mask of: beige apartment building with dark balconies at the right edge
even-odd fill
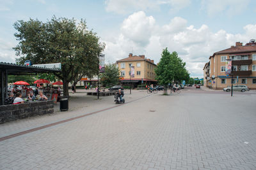
[[[232,60],[233,58],[233,60]],[[227,59],[232,60],[234,66],[232,74],[226,74]],[[204,66],[204,86],[220,90],[233,85],[246,85],[250,89],[256,89],[256,43],[251,39],[250,43],[236,42],[220,52],[215,52],[209,57],[209,62]]]

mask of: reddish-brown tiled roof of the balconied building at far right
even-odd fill
[[[227,48],[225,50],[221,50],[220,52],[215,52],[216,54],[223,53],[244,53],[244,52],[256,52],[256,46],[232,46],[231,48]]]

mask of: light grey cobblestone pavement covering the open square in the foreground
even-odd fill
[[[255,99],[134,92],[125,96],[130,103],[1,141],[0,169],[256,169]],[[89,105],[2,124],[0,134],[115,104],[110,96]]]

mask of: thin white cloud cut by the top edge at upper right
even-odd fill
[[[210,16],[225,13],[229,17],[239,15],[250,3],[250,0],[202,0],[202,9]]]

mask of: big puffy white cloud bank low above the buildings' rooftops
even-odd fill
[[[174,17],[165,25],[156,25],[154,17],[139,11],[124,20],[116,39],[104,41],[104,53],[107,60],[115,62],[127,57],[133,47],[134,55],[145,54],[159,62],[162,50],[168,47],[170,52],[179,53],[192,76],[202,77],[202,69],[210,55],[230,48],[236,41],[246,43],[256,35],[256,25],[246,25],[243,29],[243,34],[230,34],[224,30],[212,32],[204,24],[198,28],[187,25],[181,17]]]

